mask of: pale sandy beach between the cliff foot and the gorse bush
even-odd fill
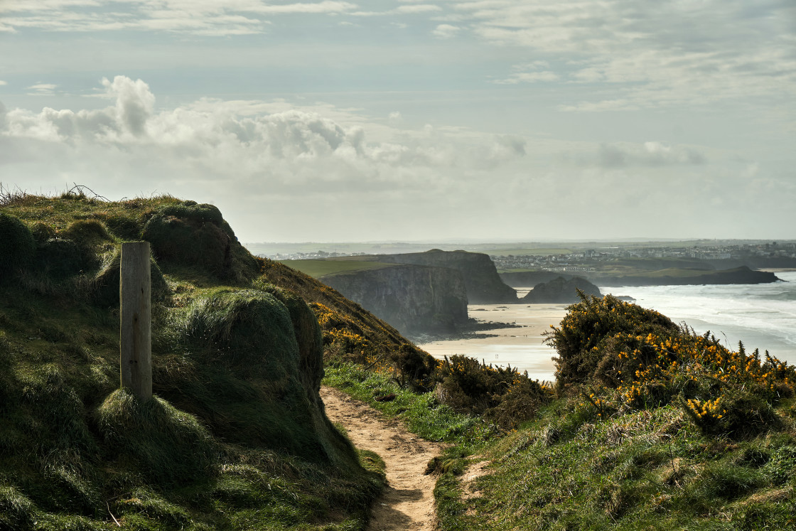
[[[528,371],[529,377],[553,381],[556,351],[543,345],[545,330],[557,325],[567,313],[566,304],[471,304],[471,318],[485,322],[513,322],[519,327],[484,330],[492,337],[435,341],[418,346],[434,357],[465,354],[492,365],[511,365]],[[498,325],[499,326],[499,325]]]

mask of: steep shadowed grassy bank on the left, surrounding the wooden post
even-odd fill
[[[146,403],[119,389],[119,248],[139,239],[153,250]],[[320,289],[251,256],[211,205],[2,197],[0,529],[364,529],[378,459],[322,412],[334,341],[263,276],[275,269]]]

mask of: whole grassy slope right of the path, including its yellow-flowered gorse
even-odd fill
[[[444,529],[796,529],[794,368],[607,296],[551,330],[556,400],[481,451]]]

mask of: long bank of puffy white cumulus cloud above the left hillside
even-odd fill
[[[0,152],[13,145],[16,162],[0,157],[4,182],[24,187],[79,175],[77,181],[95,184],[107,196],[159,189],[199,199],[227,197],[236,205],[228,209],[232,217],[237,211],[256,217],[267,198],[318,204],[319,212],[323,203],[345,198],[353,215],[372,201],[418,209],[427,204],[425,194],[439,197],[452,187],[465,192],[485,172],[525,156],[521,137],[451,127],[404,130],[397,111],[388,124],[335,107],[282,101],[201,99],[157,110],[143,80],[115,76],[102,86],[112,98],[104,108],[8,111]],[[356,197],[362,205],[351,204]]]

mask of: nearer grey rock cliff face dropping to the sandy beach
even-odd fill
[[[467,293],[458,271],[397,264],[319,279],[404,334],[447,331],[467,322]]]

